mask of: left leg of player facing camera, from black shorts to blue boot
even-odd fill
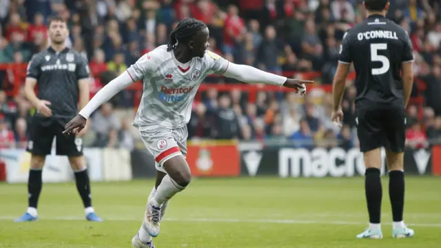
[[[30,125],[30,140],[27,151],[30,152],[30,170],[28,177],[28,210],[17,218],[16,222],[37,220],[37,205],[43,187],[42,172],[45,156],[50,154],[54,134],[50,130],[50,121],[34,116]]]

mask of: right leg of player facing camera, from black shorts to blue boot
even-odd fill
[[[74,171],[76,189],[83,201],[85,218],[90,221],[101,222],[92,207],[90,180],[88,167],[83,156],[83,142],[75,136],[57,135],[57,155],[68,156],[70,166]]]

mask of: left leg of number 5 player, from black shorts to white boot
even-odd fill
[[[369,227],[357,238],[382,238],[380,225],[382,185],[380,178],[382,130],[375,111],[357,113],[357,134],[360,151],[365,159],[365,196],[369,213]]]

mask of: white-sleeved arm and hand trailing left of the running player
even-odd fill
[[[99,90],[89,103],[83,107],[83,110],[81,110],[72,121],[65,125],[63,134],[78,134],[85,127],[86,120],[89,118],[90,114],[133,82],[130,74],[125,71],[123,74],[116,77],[116,79],[107,83],[107,85]]]

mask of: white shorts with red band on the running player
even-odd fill
[[[163,164],[174,156],[187,155],[187,126],[170,129],[154,127],[152,130],[141,131],[141,138],[145,147],[153,155],[155,167],[165,172]]]

